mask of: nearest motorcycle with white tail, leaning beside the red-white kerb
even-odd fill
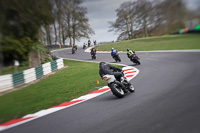
[[[125,93],[127,93],[128,91],[130,91],[131,93],[135,91],[135,88],[129,81],[127,81],[125,76],[121,77],[121,81],[118,81],[116,80],[114,75],[106,74],[103,76],[103,80],[105,81],[105,83],[108,84],[113,95],[118,98],[124,97]]]

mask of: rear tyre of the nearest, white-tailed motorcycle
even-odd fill
[[[116,97],[118,98],[124,97],[124,91],[117,84],[115,83],[110,84],[110,89]]]

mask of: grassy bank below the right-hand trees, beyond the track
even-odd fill
[[[97,46],[99,51],[135,51],[200,49],[200,34],[166,35],[161,37],[139,38]]]

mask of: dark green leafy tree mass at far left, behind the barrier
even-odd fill
[[[0,1],[0,14],[4,62],[28,59],[32,48],[39,44],[40,27],[52,23],[49,1]]]

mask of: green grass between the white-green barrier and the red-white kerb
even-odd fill
[[[64,60],[64,63],[68,68],[0,96],[0,123],[59,105],[105,85],[99,76],[98,63],[70,60]]]

